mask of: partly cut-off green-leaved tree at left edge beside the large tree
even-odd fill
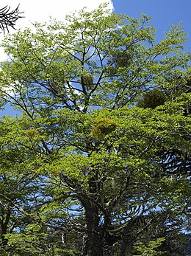
[[[21,120],[19,120],[21,122]],[[22,232],[30,223],[26,210],[34,207],[35,201],[41,195],[42,182],[35,173],[37,158],[26,151],[24,136],[29,131],[23,131],[24,126],[11,117],[1,118],[0,134],[0,253],[9,255],[11,250],[7,244],[7,235]],[[16,134],[19,133],[19,136]],[[27,137],[26,137],[27,138]],[[30,159],[30,161],[29,161]],[[33,172],[31,171],[33,169]],[[21,210],[22,209],[22,210]],[[7,253],[7,254],[6,254]]]

